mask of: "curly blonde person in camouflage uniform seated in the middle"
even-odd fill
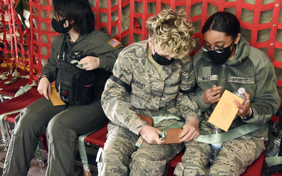
[[[111,122],[104,149],[97,155],[99,175],[126,175],[130,156],[130,175],[162,175],[166,162],[183,149],[181,143],[164,144],[159,139],[162,129],[178,121],[169,115],[186,121],[181,142],[199,134],[201,112],[187,96],[195,87],[188,55],[195,46],[192,24],[184,11],[165,9],[150,17],[146,27],[148,40],[133,43],[119,54],[114,77],[102,94]],[[146,125],[138,114],[163,121]],[[141,136],[145,140],[138,148],[135,144]]]

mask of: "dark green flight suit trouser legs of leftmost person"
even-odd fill
[[[100,99],[84,106],[53,106],[45,97],[24,108],[15,119],[3,176],[26,176],[38,144],[46,132],[47,176],[73,176],[77,135],[95,130],[108,121]]]

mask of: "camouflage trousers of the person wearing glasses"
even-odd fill
[[[200,134],[211,134],[213,126],[203,120],[200,123]],[[185,143],[186,151],[182,163],[178,163],[174,174],[178,176],[239,176],[255,161],[265,149],[263,139],[244,135],[223,143],[223,147],[214,164],[208,167],[210,146],[207,143],[190,141]],[[251,175],[252,173],[250,173]]]

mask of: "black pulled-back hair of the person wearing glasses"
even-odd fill
[[[223,32],[231,37],[236,37],[241,33],[240,22],[237,17],[230,12],[216,12],[205,22],[202,34],[208,30]]]

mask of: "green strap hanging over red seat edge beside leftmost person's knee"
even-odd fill
[[[98,129],[96,129],[96,130],[98,130]],[[81,158],[81,161],[82,161],[82,164],[83,164],[83,169],[86,171],[87,175],[90,173],[90,169],[89,169],[86,149],[85,149],[85,145],[84,145],[84,139],[89,134],[95,132],[96,130],[92,130],[92,131],[85,133],[85,134],[82,134],[78,137],[78,148],[79,148],[80,158]]]

